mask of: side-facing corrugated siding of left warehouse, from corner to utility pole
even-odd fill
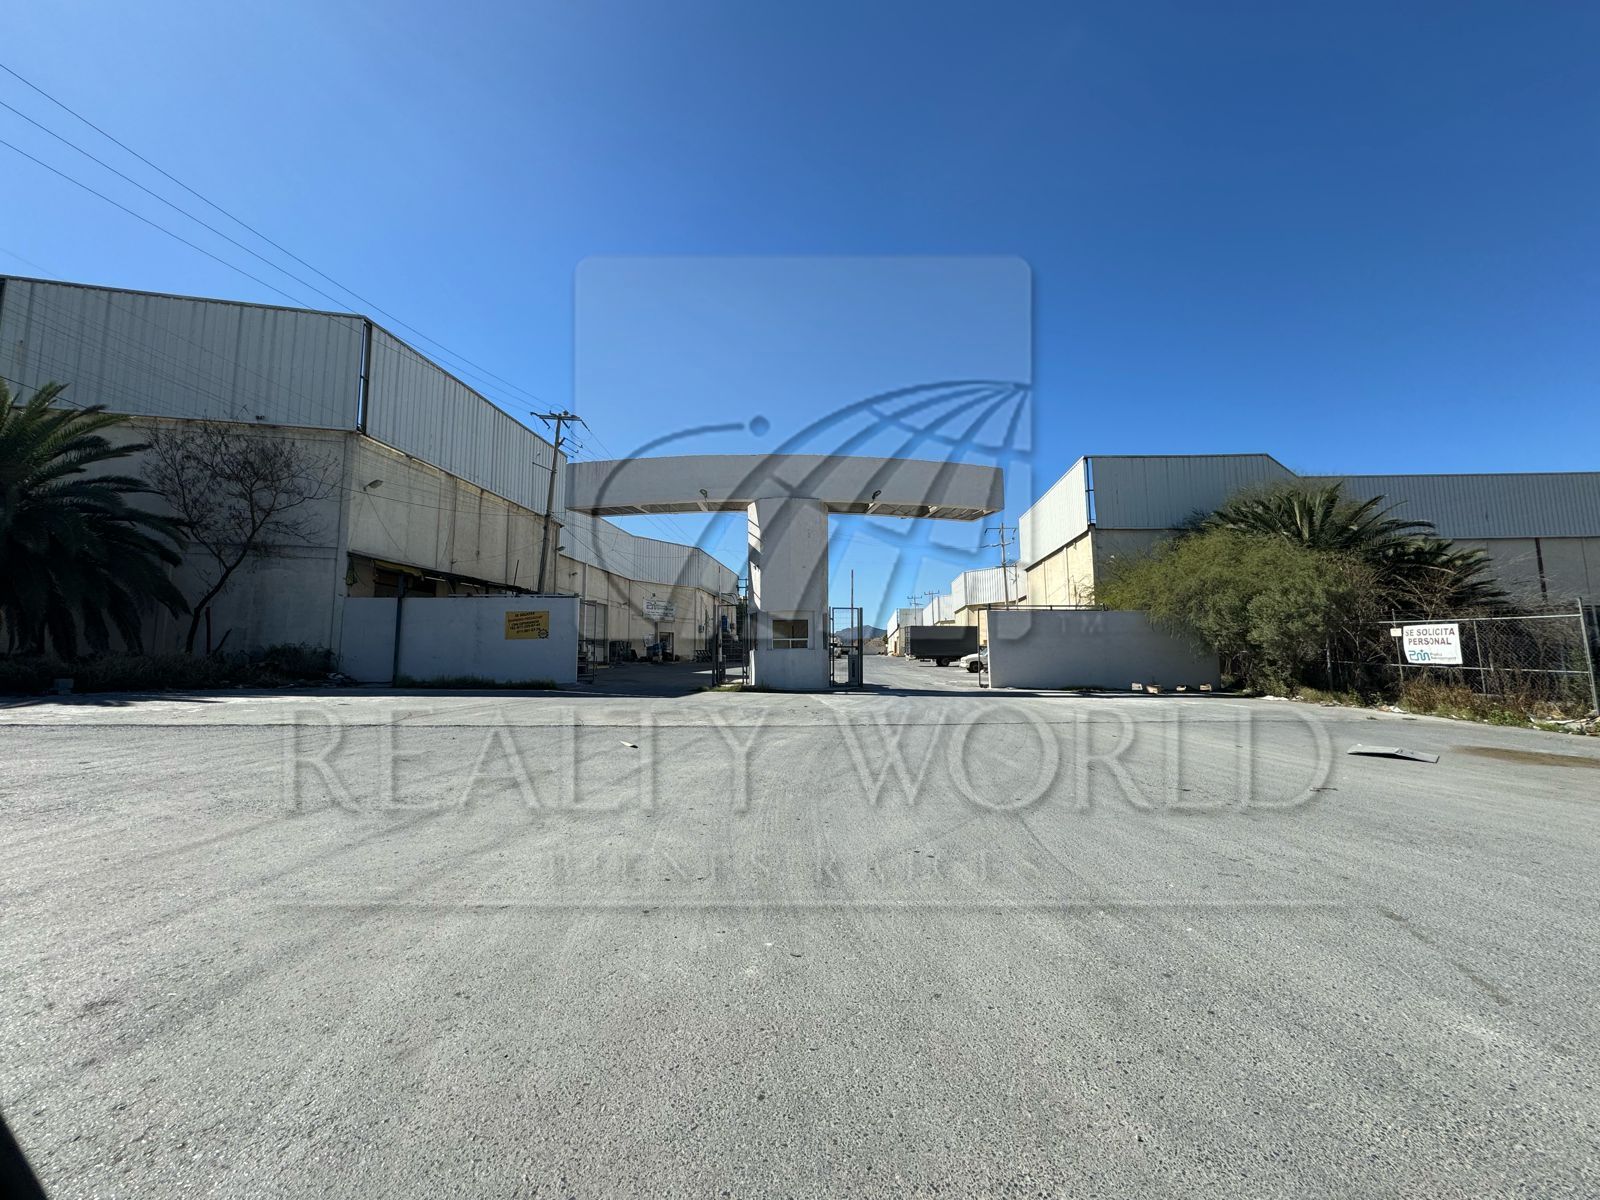
[[[550,443],[376,326],[368,365],[366,435],[496,496],[544,512]],[[563,504],[565,474],[557,472],[557,514]]]

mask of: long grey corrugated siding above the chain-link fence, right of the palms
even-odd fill
[[[1347,494],[1382,496],[1442,538],[1600,538],[1600,472],[1342,478]]]

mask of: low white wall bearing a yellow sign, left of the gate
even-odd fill
[[[342,670],[362,683],[394,675],[395,605],[344,602]],[[509,638],[507,613],[549,613],[549,637]],[[568,595],[422,597],[400,614],[400,674],[418,680],[474,675],[496,683],[578,678],[578,598]]]

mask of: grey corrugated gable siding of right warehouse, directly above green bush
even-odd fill
[[[1094,454],[1088,464],[1101,530],[1170,530],[1235,491],[1294,478],[1270,454]]]

